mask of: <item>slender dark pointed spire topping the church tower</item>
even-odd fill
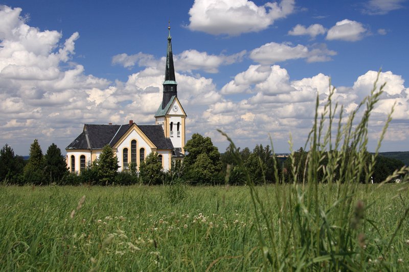
[[[168,50],[166,54],[165,81],[163,82],[162,109],[165,109],[172,96],[177,96],[177,83],[175,79],[175,68],[173,66],[172,37],[170,36],[170,21],[168,30]]]

